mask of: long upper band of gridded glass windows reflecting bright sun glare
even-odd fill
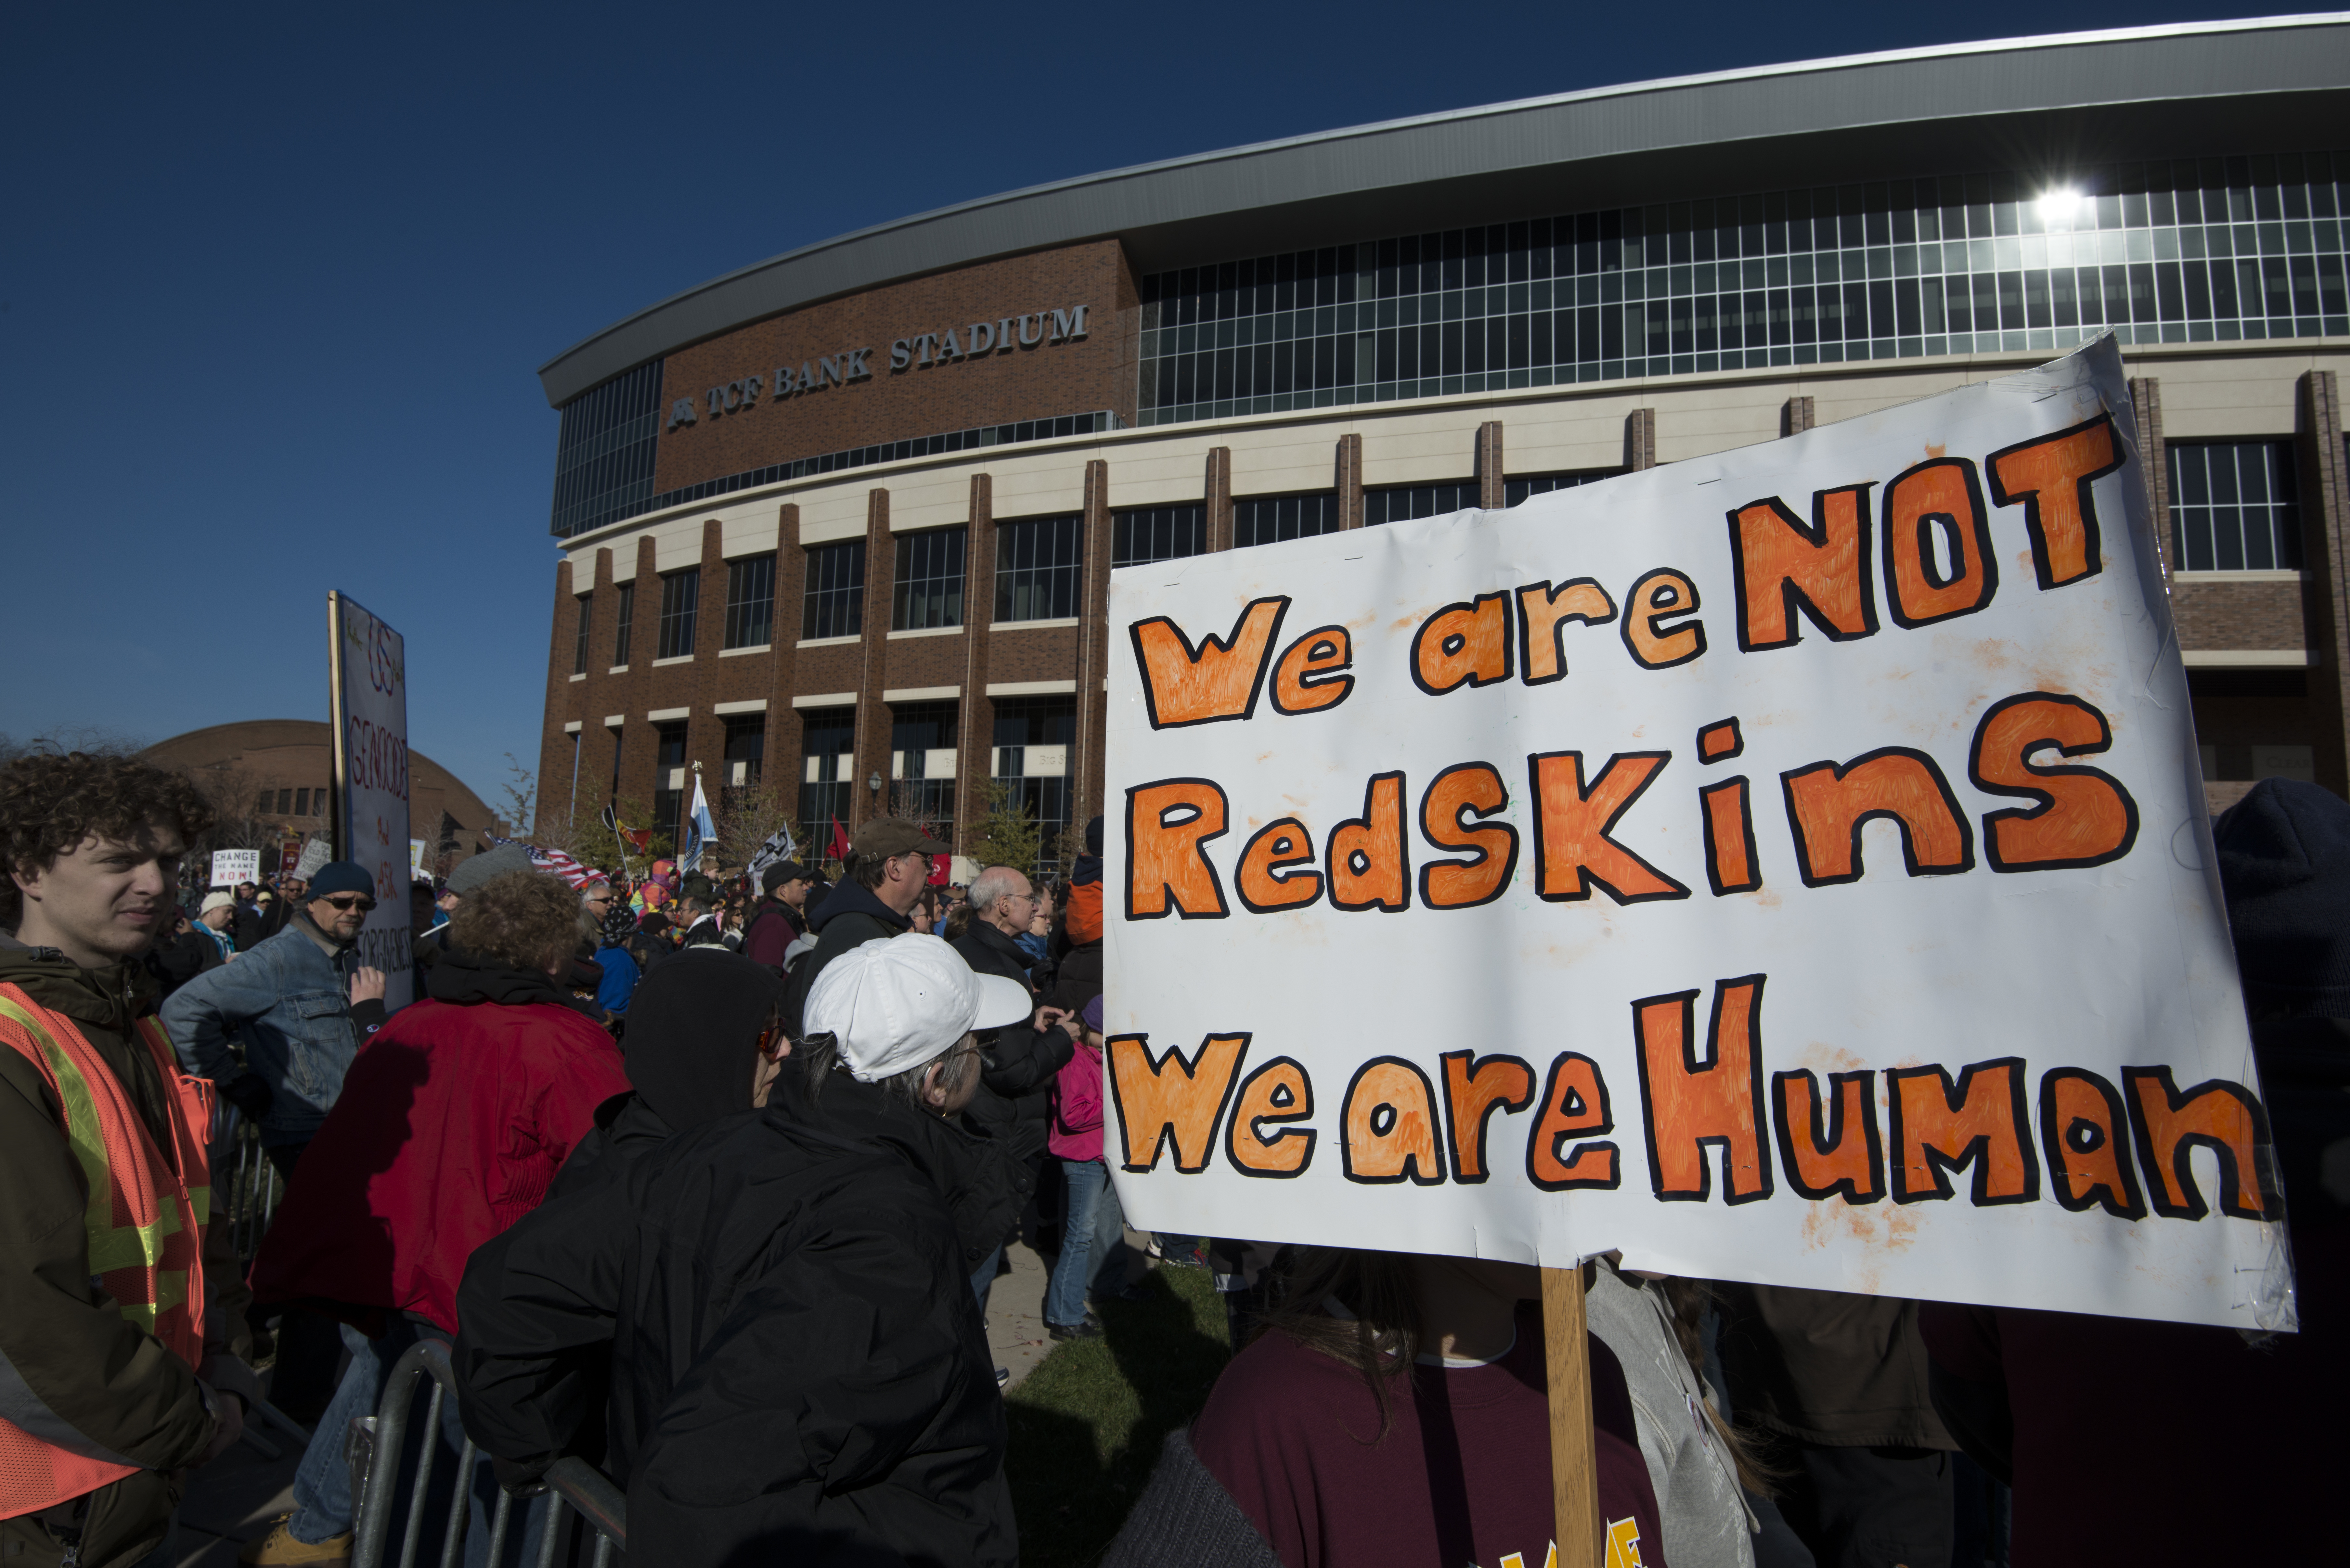
[[[2350,334],[2350,153],[1584,212],[1142,280],[1137,423],[1943,353]],[[2054,181],[2049,181],[2054,183]]]

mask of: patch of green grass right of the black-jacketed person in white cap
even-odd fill
[[[1046,1356],[1006,1401],[1006,1474],[1029,1568],[1090,1568],[1152,1479],[1159,1443],[1231,1359],[1208,1269],[1152,1269],[1144,1300],[1097,1307],[1100,1340]]]

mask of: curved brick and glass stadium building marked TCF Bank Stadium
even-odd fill
[[[543,809],[1102,809],[1114,567],[2122,341],[2214,804],[2350,792],[2350,16],[1767,66],[1069,179],[552,360]],[[712,790],[714,792],[714,790]]]

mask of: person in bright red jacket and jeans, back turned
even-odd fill
[[[531,1213],[595,1110],[630,1091],[620,1051],[559,976],[578,943],[578,898],[555,877],[505,872],[468,893],[430,997],[402,1009],[352,1060],[298,1180],[254,1258],[261,1300],[338,1316],[352,1359],[294,1479],[294,1514],[244,1563],[338,1563],[352,1497],[343,1432],[416,1340],[454,1340],[465,1260]],[[456,1448],[456,1401],[444,1406]],[[496,1483],[470,1479],[486,1521]],[[517,1552],[526,1530],[510,1530]],[[486,1559],[486,1523],[468,1563]]]

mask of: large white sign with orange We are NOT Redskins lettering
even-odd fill
[[[2289,1326],[2110,341],[1109,618],[1130,1222]]]

